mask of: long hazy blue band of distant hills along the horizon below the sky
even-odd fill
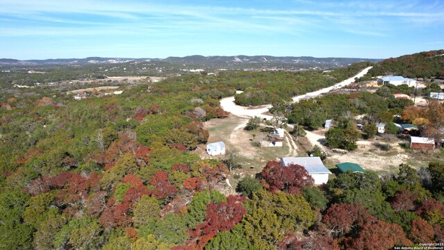
[[[310,56],[185,56],[159,58],[67,58],[46,60],[15,60],[0,59],[0,65],[84,65],[97,63],[128,63],[132,61],[164,61],[166,63],[195,65],[201,67],[283,67],[300,65],[307,67],[336,68],[345,67],[352,63],[377,63],[382,59],[369,58],[314,58]]]

